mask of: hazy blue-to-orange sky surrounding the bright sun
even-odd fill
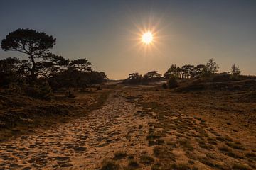
[[[17,28],[57,39],[53,52],[86,57],[110,79],[158,70],[171,64],[205,64],[213,57],[220,71],[231,64],[256,73],[256,1],[249,0],[0,0],[0,40]],[[140,43],[154,30],[153,45]],[[0,59],[19,57],[0,50]]]

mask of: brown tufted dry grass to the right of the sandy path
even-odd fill
[[[184,169],[238,169],[235,162],[251,169],[256,166],[256,151],[252,151],[256,147],[256,103],[239,101],[246,89],[220,91],[217,85],[213,85],[215,91],[199,88],[185,93],[146,86],[127,89],[126,95],[139,96],[133,103],[156,114],[156,123],[149,125],[146,136],[159,159],[151,169],[171,167],[174,161],[188,166]],[[178,165],[174,169],[183,169]]]

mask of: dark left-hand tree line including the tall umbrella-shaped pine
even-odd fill
[[[79,87],[101,84],[107,81],[104,72],[92,69],[86,58],[68,60],[55,55],[50,49],[56,39],[46,33],[31,29],[17,29],[1,41],[4,51],[16,51],[26,55],[26,60],[7,57],[0,60],[0,86],[10,84],[48,84],[51,89]]]

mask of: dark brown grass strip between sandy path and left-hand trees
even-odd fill
[[[48,128],[56,123],[67,123],[84,116],[90,111],[101,108],[111,90],[90,94],[76,91],[74,92],[76,98],[65,98],[64,94],[58,93],[55,94],[58,97],[51,101],[9,95],[9,101],[6,102],[16,104],[9,106],[7,103],[0,102],[0,142],[8,140],[10,137],[29,133],[36,128]],[[1,104],[4,107],[1,108]],[[80,111],[81,107],[82,112]]]

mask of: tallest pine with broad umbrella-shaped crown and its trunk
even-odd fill
[[[28,60],[23,60],[23,67],[35,81],[40,72],[38,67],[41,60],[45,60],[48,50],[53,48],[56,39],[46,33],[39,33],[31,29],[17,29],[6,35],[1,42],[1,48],[5,51],[18,51],[28,55]]]

